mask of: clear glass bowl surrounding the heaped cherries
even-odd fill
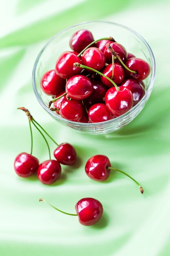
[[[135,56],[144,59],[150,65],[150,75],[146,80],[144,80],[146,86],[146,94],[135,107],[120,117],[101,123],[85,124],[66,120],[48,108],[48,102],[51,100],[51,97],[42,92],[40,88],[41,77],[46,71],[55,68],[55,62],[58,56],[62,52],[70,49],[69,40],[71,36],[80,29],[90,30],[95,40],[103,37],[113,36],[113,38],[115,38],[118,43],[124,45],[127,52],[130,52]],[[56,34],[51,40],[49,40],[49,42],[43,47],[41,52],[38,54],[33,67],[33,89],[38,101],[44,110],[46,110],[46,112],[48,112],[49,115],[51,115],[51,117],[53,117],[56,121],[60,121],[66,126],[71,127],[79,132],[85,132],[89,134],[113,132],[132,121],[139,114],[139,112],[141,112],[146,102],[148,101],[154,81],[155,58],[148,43],[146,43],[144,38],[142,38],[137,32],[124,25],[120,25],[114,22],[84,22],[64,29],[60,33]]]

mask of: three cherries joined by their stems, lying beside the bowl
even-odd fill
[[[44,128],[42,128],[42,126],[40,126],[40,124],[38,124],[38,122],[35,121],[35,119],[32,117],[28,109],[18,109],[23,110],[29,119],[29,127],[31,131],[31,154],[22,152],[19,155],[17,155],[14,161],[15,172],[20,177],[29,177],[33,175],[33,173],[37,172],[37,177],[42,183],[52,184],[61,175],[60,164],[72,165],[75,163],[77,157],[75,148],[73,148],[73,146],[69,143],[62,143],[58,145],[57,142],[44,130]],[[49,160],[46,160],[41,164],[39,164],[39,160],[32,155],[33,135],[31,124],[33,124],[33,126],[35,126],[35,128],[40,132],[49,150]],[[42,131],[57,145],[57,148],[54,150],[54,157],[56,160],[51,159],[49,144]]]

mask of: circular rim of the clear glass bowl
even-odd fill
[[[116,26],[119,26],[119,27],[123,27],[127,30],[129,30],[130,32],[132,32],[133,34],[135,34],[143,43],[144,45],[146,46],[146,48],[148,49],[148,52],[150,53],[150,56],[151,56],[151,60],[152,60],[152,66],[153,66],[153,72],[152,72],[152,75],[151,75],[151,80],[150,80],[150,85],[148,87],[148,89],[146,90],[146,93],[144,95],[144,97],[134,106],[132,107],[130,110],[128,110],[126,113],[124,113],[123,115],[119,116],[119,117],[116,117],[114,119],[111,119],[111,120],[108,120],[108,121],[104,121],[104,122],[99,122],[99,123],[79,123],[79,122],[75,122],[75,121],[70,121],[68,119],[64,119],[63,117],[61,117],[60,115],[56,115],[53,111],[51,111],[45,104],[44,102],[42,101],[42,99],[40,98],[39,96],[39,92],[37,90],[37,87],[36,87],[36,81],[35,81],[35,74],[36,74],[36,69],[37,69],[37,65],[38,65],[38,61],[40,59],[40,56],[42,55],[42,53],[44,52],[44,50],[46,49],[46,47],[51,43],[52,40],[54,40],[57,36],[59,36],[60,34],[62,34],[63,32],[73,28],[73,27],[77,27],[79,25],[84,25],[84,24],[94,24],[94,23],[102,23],[102,24],[111,24],[111,25],[116,25]],[[129,117],[133,112],[135,112],[135,110],[137,108],[140,108],[140,106],[142,105],[143,102],[147,101],[148,99],[148,95],[150,94],[150,92],[152,91],[152,88],[153,88],[153,85],[154,85],[154,82],[155,82],[155,75],[156,75],[156,63],[155,63],[155,57],[154,57],[154,54],[152,52],[152,49],[150,48],[150,46],[148,45],[148,43],[146,42],[146,40],[140,35],[138,34],[135,30],[125,26],[125,25],[122,25],[122,24],[119,24],[117,22],[110,22],[110,21],[86,21],[86,22],[81,22],[81,23],[77,23],[75,25],[72,25],[62,31],[60,31],[59,33],[55,34],[55,36],[53,36],[45,45],[44,47],[41,49],[40,53],[38,54],[36,60],[35,60],[35,63],[34,63],[34,66],[33,66],[33,72],[32,72],[32,83],[33,83],[33,90],[35,92],[35,96],[36,98],[38,99],[40,105],[42,106],[42,108],[44,108],[44,110],[46,110],[46,112],[49,113],[49,115],[52,115],[54,119],[57,119],[59,121],[62,121],[63,123],[66,123],[66,124],[72,124],[73,126],[79,126],[80,128],[81,127],[91,127],[91,128],[95,128],[95,127],[98,127],[98,126],[106,126],[106,125],[109,125],[109,124],[114,124],[114,123],[117,123],[119,122],[120,120],[124,119],[125,117]]]

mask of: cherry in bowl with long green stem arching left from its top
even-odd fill
[[[119,117],[132,108],[132,92],[124,86],[119,86],[119,91],[115,87],[111,87],[106,92],[105,102],[110,112],[115,117]]]

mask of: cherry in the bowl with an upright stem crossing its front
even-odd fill
[[[104,67],[102,70],[102,73],[107,76],[108,78],[112,78],[112,64],[107,65]],[[124,69],[121,65],[118,63],[114,64],[114,79],[112,79],[116,85],[119,85],[123,80],[124,80]],[[106,77],[101,76],[100,77],[102,83],[106,85],[107,87],[112,87],[114,86],[113,83],[111,83]]]

